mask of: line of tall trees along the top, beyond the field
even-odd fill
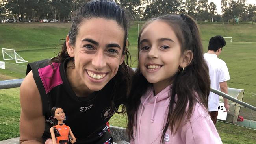
[[[90,0],[0,0],[0,21],[15,18],[19,21],[43,18],[69,21],[73,11]],[[246,0],[221,0],[222,15],[214,2],[208,0],[115,0],[136,21],[168,13],[188,14],[197,21],[254,22],[256,5]]]

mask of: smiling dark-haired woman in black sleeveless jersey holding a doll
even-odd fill
[[[20,143],[51,142],[54,106],[65,111],[63,123],[76,144],[112,142],[108,120],[126,100],[132,71],[127,29],[124,10],[112,0],[91,1],[72,14],[58,56],[28,64],[20,87]]]

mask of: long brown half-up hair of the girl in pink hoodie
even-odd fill
[[[183,72],[177,72],[172,77],[173,83],[169,92],[170,103],[168,116],[162,133],[163,140],[163,134],[166,133],[167,129],[171,129],[171,132],[175,134],[178,129],[189,121],[196,102],[202,103],[207,109],[210,78],[208,75],[208,66],[203,57],[203,47],[198,26],[193,18],[188,15],[164,15],[149,20],[144,24],[139,33],[138,48],[140,47],[141,33],[148,24],[156,20],[166,22],[174,30],[181,44],[182,54],[186,50],[191,50],[193,53],[191,63]],[[134,122],[137,121],[134,118],[140,105],[140,98],[150,85],[152,84],[148,83],[147,79],[141,74],[138,66],[132,78],[132,89],[128,97],[128,103],[125,105],[128,117],[127,132],[130,138],[134,138]],[[177,99],[175,100],[176,94]]]

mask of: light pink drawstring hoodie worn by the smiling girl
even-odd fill
[[[169,108],[169,90],[166,87],[156,96],[149,88],[141,97],[136,113],[134,140],[130,144],[160,144],[163,127]],[[164,135],[164,144],[222,144],[221,138],[208,115],[206,108],[196,103],[190,120],[173,135],[170,129]]]

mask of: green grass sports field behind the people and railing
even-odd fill
[[[11,48],[29,62],[54,57],[60,51],[60,44],[69,31],[70,23],[65,24],[0,24],[0,48]],[[233,37],[232,43],[223,48],[220,58],[229,69],[231,80],[228,87],[245,89],[243,101],[256,106],[256,25],[199,25],[202,33],[202,44],[207,51],[208,40],[214,35]],[[141,23],[139,24],[141,28]],[[130,53],[137,66],[137,24],[129,31]],[[2,55],[0,54],[0,61]],[[6,61],[10,70],[0,69],[0,80],[24,78],[27,63],[13,65],[14,61]],[[13,68],[13,69],[12,69]],[[19,136],[19,88],[0,90],[0,140]],[[247,117],[246,109],[240,115]],[[256,117],[256,116],[255,116]],[[120,115],[110,121],[116,126],[125,127],[126,119]],[[256,132],[230,124],[218,123],[217,129],[223,143],[237,144],[255,143]],[[254,135],[254,137],[252,137]],[[231,137],[231,138],[230,138]]]

